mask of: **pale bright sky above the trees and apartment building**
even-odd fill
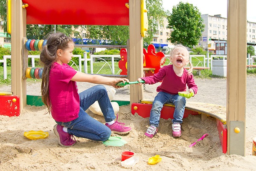
[[[172,7],[182,1],[196,6],[201,14],[216,15],[227,18],[227,0],[163,0],[163,8],[172,12]],[[256,23],[256,0],[247,0],[247,20]]]

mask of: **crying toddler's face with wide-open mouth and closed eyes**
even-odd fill
[[[189,63],[189,52],[185,48],[177,47],[173,50],[170,60],[175,67],[183,68]]]

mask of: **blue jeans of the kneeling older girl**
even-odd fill
[[[79,94],[79,117],[67,123],[57,122],[67,127],[69,134],[95,141],[105,141],[111,136],[111,130],[106,125],[90,117],[85,111],[94,102],[98,101],[106,122],[116,119],[108,93],[103,85],[93,86]]]

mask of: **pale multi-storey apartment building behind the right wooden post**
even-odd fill
[[[204,31],[198,43],[206,51],[213,54],[227,54],[227,18],[221,15],[201,15],[204,20]],[[247,44],[256,45],[256,23],[247,21]],[[220,46],[218,46],[220,44]]]

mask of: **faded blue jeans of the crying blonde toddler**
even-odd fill
[[[154,98],[152,108],[150,111],[149,124],[156,127],[159,126],[160,114],[163,105],[166,103],[173,103],[175,105],[175,110],[173,113],[172,123],[182,123],[182,118],[185,111],[186,98],[179,96],[179,94],[169,94],[160,91]]]

